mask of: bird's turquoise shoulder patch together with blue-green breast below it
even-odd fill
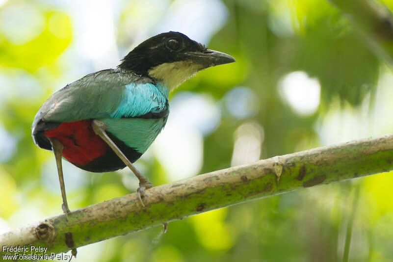
[[[165,113],[160,118],[146,118],[149,113],[160,112]],[[101,120],[108,132],[144,153],[164,128],[168,112],[168,89],[163,84],[130,83],[124,88],[120,105],[110,113],[111,118]]]

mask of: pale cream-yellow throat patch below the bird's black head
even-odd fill
[[[160,64],[149,70],[149,75],[163,81],[172,91],[185,80],[203,69],[203,65],[191,60]]]

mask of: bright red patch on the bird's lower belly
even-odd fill
[[[77,165],[86,165],[109,149],[105,141],[93,131],[90,120],[62,123],[46,130],[44,134],[57,138],[64,145],[63,157]]]

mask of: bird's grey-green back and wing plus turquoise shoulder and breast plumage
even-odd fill
[[[51,149],[44,131],[63,122],[100,119],[108,132],[144,153],[166,123],[168,92],[161,82],[127,70],[87,75],[54,93],[41,106],[32,125],[34,142]]]

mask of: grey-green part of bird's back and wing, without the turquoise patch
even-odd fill
[[[110,117],[120,104],[124,85],[151,79],[127,70],[106,69],[89,74],[67,84],[41,105],[32,123],[34,142],[45,149],[52,149],[43,131],[62,122]]]

